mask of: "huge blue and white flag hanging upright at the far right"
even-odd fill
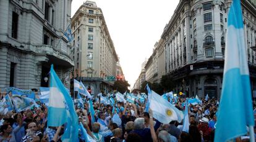
[[[243,27],[241,1],[233,0],[228,13],[223,85],[215,130],[216,142],[245,135],[246,125],[254,126]]]

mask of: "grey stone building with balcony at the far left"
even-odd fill
[[[74,66],[63,36],[72,0],[0,1],[0,89],[48,87],[51,64],[67,88]]]

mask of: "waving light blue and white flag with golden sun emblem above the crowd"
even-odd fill
[[[176,111],[173,106],[158,95],[156,92],[151,91],[149,108],[153,111],[153,117],[163,124],[169,124],[172,120],[177,120]]]

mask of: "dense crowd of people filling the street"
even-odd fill
[[[105,96],[105,95],[103,95]],[[107,97],[107,96],[105,96]],[[168,98],[170,102],[170,98]],[[93,98],[95,114],[91,116],[88,99],[83,98],[81,107],[74,101],[79,122],[85,128],[88,138],[79,130],[80,141],[213,141],[216,112],[219,100],[202,98],[202,103],[189,105],[189,132],[182,132],[183,122],[172,120],[169,124],[161,124],[153,118],[153,112],[145,111],[146,103],[115,101],[115,105],[100,103],[100,97]],[[186,98],[177,97],[173,105],[184,111]],[[146,102],[146,101],[145,101]],[[47,127],[48,107],[36,101],[38,106],[21,112],[9,111],[0,114],[0,142],[13,141],[61,141],[64,125]],[[92,118],[95,122],[92,123]],[[237,139],[242,141],[243,138]],[[246,137],[244,140],[247,140]]]

